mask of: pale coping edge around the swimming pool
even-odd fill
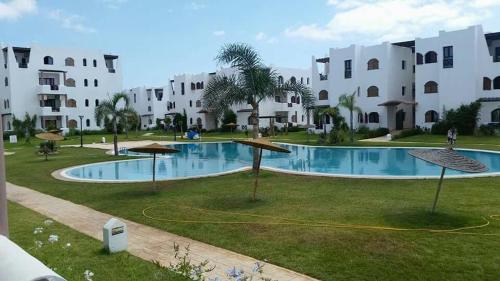
[[[231,141],[221,141],[221,142],[203,142],[203,143],[229,143]],[[286,142],[275,142],[277,144],[284,144],[290,146],[307,146],[307,147],[320,147],[320,148],[356,148],[356,149],[365,149],[365,148],[376,148],[376,149],[445,149],[442,147],[428,147],[428,146],[318,146],[318,145],[302,145],[302,144],[293,144]],[[195,144],[195,143],[175,143],[175,144]],[[456,148],[456,150],[461,151],[476,151],[476,152],[485,152],[485,153],[494,153],[500,154],[500,151],[493,150],[485,150],[485,149],[468,149],[468,148]],[[108,154],[109,151],[106,152]],[[122,155],[124,156],[124,155]],[[102,161],[95,162],[83,165],[76,165],[71,167],[66,167],[62,169],[55,170],[51,173],[51,176],[62,181],[70,181],[70,182],[85,182],[85,183],[142,183],[149,182],[150,179],[145,180],[103,180],[103,179],[82,179],[69,175],[67,172],[71,169],[86,167],[95,164],[102,163],[114,163],[114,162],[125,162],[125,161],[135,161],[137,158],[140,159],[153,159],[152,157],[144,157],[142,155],[129,155],[126,157],[133,157],[133,159],[123,159],[123,160],[112,160],[112,161]],[[188,176],[188,177],[178,177],[171,179],[158,179],[157,181],[175,181],[175,180],[187,180],[187,179],[199,179],[199,178],[207,178],[207,177],[217,177],[223,175],[234,174],[238,172],[251,170],[251,166],[245,166],[234,170],[212,173],[207,175],[199,175],[199,176]],[[415,179],[439,179],[439,175],[430,176],[387,176],[387,175],[348,175],[348,174],[328,174],[321,172],[302,172],[302,171],[292,171],[281,168],[274,168],[269,166],[261,166],[262,170],[267,170],[271,172],[279,172],[290,175],[300,175],[300,176],[315,176],[315,177],[329,177],[329,178],[351,178],[351,179],[390,179],[390,180],[415,180]],[[460,178],[484,178],[484,177],[497,177],[500,176],[500,172],[490,172],[490,173],[478,173],[478,174],[462,174],[462,175],[447,175],[445,178],[447,179],[460,179]]]

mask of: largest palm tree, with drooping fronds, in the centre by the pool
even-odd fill
[[[222,47],[215,60],[236,71],[232,75],[217,75],[208,82],[203,95],[203,106],[220,118],[231,106],[249,104],[252,107],[250,119],[254,139],[259,135],[260,102],[287,92],[300,96],[303,106],[314,101],[308,87],[291,81],[279,83],[276,71],[265,66],[257,51],[247,44],[227,44]],[[257,169],[258,159],[258,150],[255,149],[254,171]]]

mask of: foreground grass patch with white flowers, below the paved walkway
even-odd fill
[[[84,272],[90,270],[94,273],[93,280],[186,281],[126,252],[107,254],[100,241],[57,222],[46,225],[46,217],[18,204],[9,203],[8,207],[10,239],[66,280],[85,280]],[[43,227],[43,232],[34,234],[37,227]],[[59,240],[50,243],[51,234]],[[43,244],[38,247],[35,241]]]

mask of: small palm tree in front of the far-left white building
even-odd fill
[[[109,118],[113,124],[113,147],[115,155],[118,155],[118,122],[120,119],[125,120],[127,116],[137,114],[130,107],[130,100],[125,93],[116,93],[110,99],[101,102],[95,108],[95,119],[101,121],[105,117]]]

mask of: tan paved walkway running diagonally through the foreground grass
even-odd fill
[[[111,215],[98,212],[83,205],[78,205],[38,191],[7,183],[7,197],[44,216],[50,217],[81,233],[102,240],[102,226],[112,218]],[[202,242],[174,235],[153,227],[121,219],[129,230],[128,251],[144,260],[157,260],[168,265],[173,260],[173,243],[181,247],[190,245],[193,261],[209,260],[216,268],[208,277],[219,276],[226,280],[226,270],[236,266],[251,272],[257,261],[235,252],[214,247]],[[264,267],[266,277],[280,281],[316,280],[291,270],[267,264]]]

